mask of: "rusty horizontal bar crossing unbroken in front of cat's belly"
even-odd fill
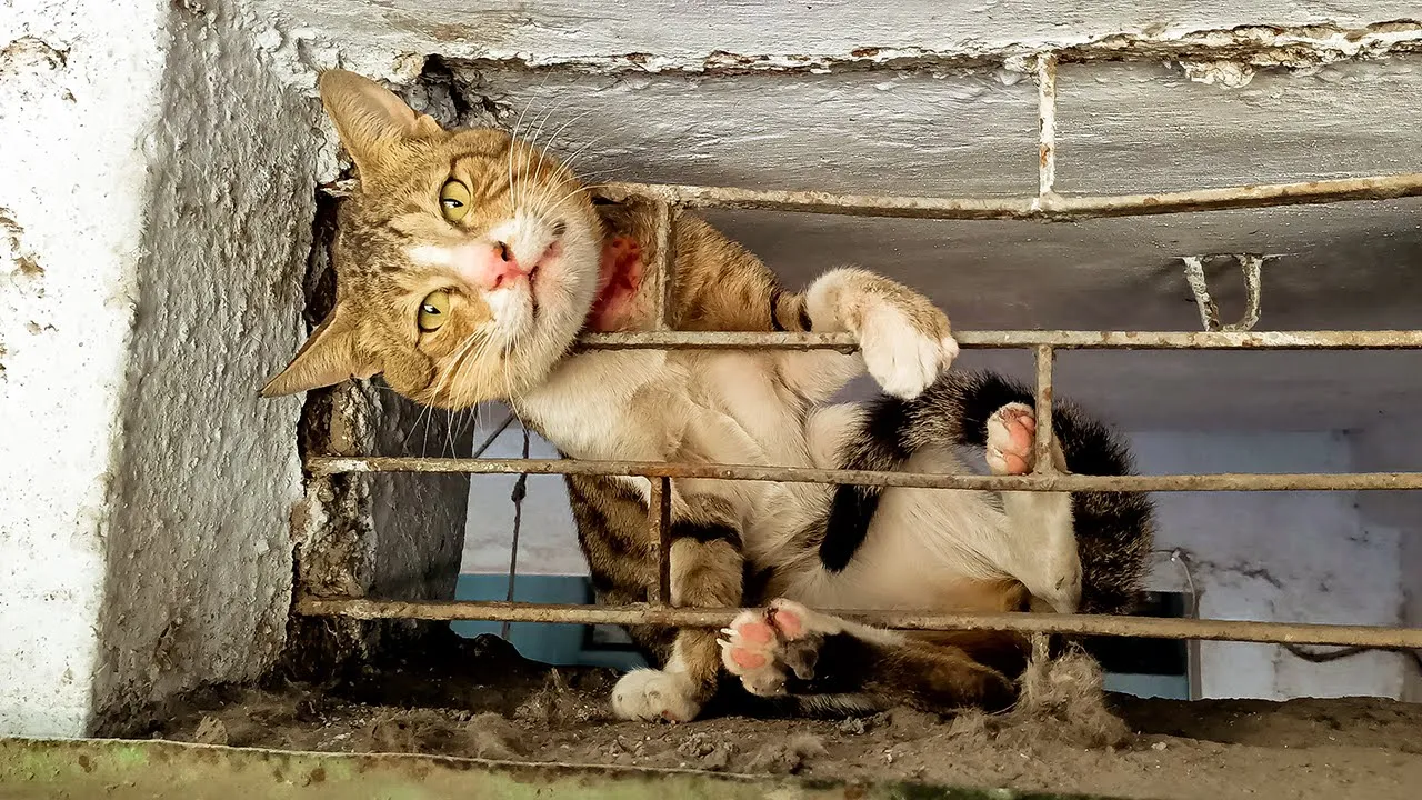
[[[1206,475],[967,475],[815,470],[747,464],[583,461],[579,458],[415,458],[395,456],[307,458],[314,475],[340,473],[465,473],[472,475],[641,475],[801,484],[889,485],[975,491],[1359,491],[1422,488],[1422,473],[1288,473]]]

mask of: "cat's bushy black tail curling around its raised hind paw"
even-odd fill
[[[987,444],[987,421],[1003,406],[1035,406],[1031,389],[990,372],[950,370],[913,400],[883,396],[865,409],[863,424],[842,453],[842,468],[903,468],[924,447]],[[1052,428],[1066,468],[1084,475],[1128,475],[1130,456],[1111,430],[1071,403],[1055,403]],[[842,485],[835,491],[819,557],[826,569],[849,565],[869,532],[883,487]],[[1155,521],[1143,494],[1072,494],[1082,565],[1081,611],[1122,614],[1140,594]]]

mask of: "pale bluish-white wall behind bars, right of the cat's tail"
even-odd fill
[[[1342,473],[1342,433],[1146,433],[1145,473]],[[1160,548],[1186,551],[1200,616],[1398,625],[1396,531],[1364,524],[1358,493],[1158,493]],[[1320,648],[1328,651],[1331,648]],[[1202,642],[1210,698],[1398,698],[1411,665],[1394,653],[1311,663],[1274,645]]]

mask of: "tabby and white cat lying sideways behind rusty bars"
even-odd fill
[[[674,327],[848,332],[857,353],[574,350],[583,330],[651,327],[656,206],[594,202],[547,152],[498,130],[447,131],[361,75],[326,71],[320,94],[360,189],[340,209],[337,302],[263,396],[380,374],[428,406],[508,401],[570,458],[954,473],[953,446],[985,444],[993,471],[1031,470],[1030,396],[950,370],[957,344],[930,300],[856,268],[791,292],[690,214],[674,231]],[[829,403],[865,372],[884,400]],[[1105,428],[1076,419],[1059,417],[1054,458],[1123,473]],[[646,601],[650,483],[566,483],[599,599]],[[691,720],[737,685],[738,698],[806,713],[1003,707],[1021,636],[903,633],[813,608],[1075,611],[1098,582],[1133,595],[1150,508],[1092,498],[673,480],[671,602],[757,608],[721,632],[631,626],[658,666],[624,675],[613,709]],[[1106,520],[1108,535],[1074,528],[1074,514],[1078,528]],[[1091,557],[1082,574],[1078,534],[1119,545],[1101,581]]]

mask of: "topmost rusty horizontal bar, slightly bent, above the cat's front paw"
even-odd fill
[[[912,219],[1057,221],[1418,196],[1422,195],[1422,172],[1142,195],[926,198],[674,184],[609,184],[597,189],[597,194],[611,201],[650,198],[683,208],[744,208]]]

